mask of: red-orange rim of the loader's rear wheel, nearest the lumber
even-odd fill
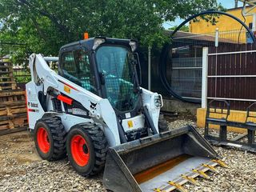
[[[42,153],[47,154],[50,150],[49,136],[45,128],[39,127],[37,133],[37,140],[39,149]]]

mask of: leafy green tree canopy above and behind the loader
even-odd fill
[[[82,39],[85,31],[161,46],[167,40],[163,22],[218,8],[216,0],[0,0],[0,42],[26,43],[8,50],[17,62],[32,51],[58,55],[62,45]]]

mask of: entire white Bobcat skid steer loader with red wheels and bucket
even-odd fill
[[[159,131],[162,96],[140,87],[137,46],[99,37],[62,46],[58,58],[30,55],[26,99],[36,149],[49,161],[67,154],[84,176],[105,167],[107,190],[186,191],[184,183],[225,164],[194,127]]]

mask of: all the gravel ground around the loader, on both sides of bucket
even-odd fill
[[[195,125],[192,120],[169,123],[171,129]],[[202,129],[198,129],[202,134]],[[216,132],[216,131],[215,131]],[[217,133],[217,132],[216,132]],[[236,134],[231,134],[231,137]],[[256,154],[214,147],[229,168],[208,172],[210,180],[197,178],[200,186],[186,184],[188,191],[256,191]],[[102,174],[79,176],[67,159],[46,162],[38,158],[28,132],[0,137],[0,191],[106,191]]]

